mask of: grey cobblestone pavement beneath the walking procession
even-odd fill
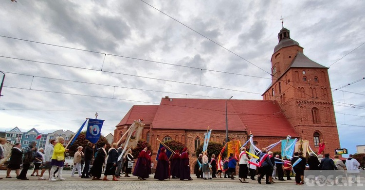
[[[263,184],[258,184],[257,181],[248,179],[249,183],[240,183],[236,178],[215,178],[213,180],[197,179],[192,174],[192,181],[181,181],[180,179],[171,179],[159,181],[153,179],[153,174],[145,181],[139,180],[136,176],[120,177],[119,181],[92,181],[91,179],[84,179],[80,177],[71,177],[71,171],[64,171],[63,176],[66,181],[51,182],[48,180],[38,180],[36,176],[30,176],[32,171],[29,170],[27,177],[30,180],[19,180],[15,177],[15,171],[11,172],[13,178],[5,178],[6,171],[0,171],[0,189],[1,190],[230,190],[230,189],[265,189],[283,190],[283,189],[303,189],[303,186],[295,185],[291,181],[274,180],[274,184],[266,185],[265,180]],[[76,174],[77,175],[77,174]],[[48,174],[45,176],[48,178]],[[102,175],[103,177],[103,175]],[[108,176],[111,179],[111,176]]]

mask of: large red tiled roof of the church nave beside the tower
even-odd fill
[[[172,100],[172,101],[170,101]],[[162,98],[153,128],[225,130],[225,102],[222,99]],[[277,103],[271,100],[227,102],[228,130],[250,131],[254,136],[298,136]],[[123,120],[122,120],[123,121]]]

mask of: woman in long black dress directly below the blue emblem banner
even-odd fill
[[[96,157],[94,162],[92,163],[92,167],[90,170],[90,174],[92,175],[91,180],[101,180],[101,172],[103,170],[103,165],[105,163],[105,158],[107,157],[107,151],[105,148],[107,147],[106,143],[100,143],[101,148],[96,151]],[[85,161],[86,163],[86,161]],[[85,176],[86,178],[87,176]]]

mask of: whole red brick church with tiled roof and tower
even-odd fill
[[[250,132],[254,143],[263,148],[279,140],[309,140],[318,151],[321,139],[326,153],[340,148],[330,91],[328,67],[311,61],[303,47],[282,28],[278,45],[271,57],[272,83],[262,94],[263,100],[188,99],[164,97],[160,105],[134,105],[114,130],[118,141],[134,120],[146,124],[142,139],[151,144],[156,157],[159,142],[175,140],[186,144],[190,162],[196,164],[195,150],[204,141],[209,126],[211,142],[226,141],[226,111],[229,140],[245,143]],[[226,110],[227,106],[227,110]],[[280,150],[280,145],[273,150]],[[193,171],[193,168],[192,168]]]

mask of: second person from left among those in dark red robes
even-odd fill
[[[166,148],[160,149],[159,160],[157,161],[156,172],[153,178],[163,181],[170,177],[170,164],[166,155]]]

